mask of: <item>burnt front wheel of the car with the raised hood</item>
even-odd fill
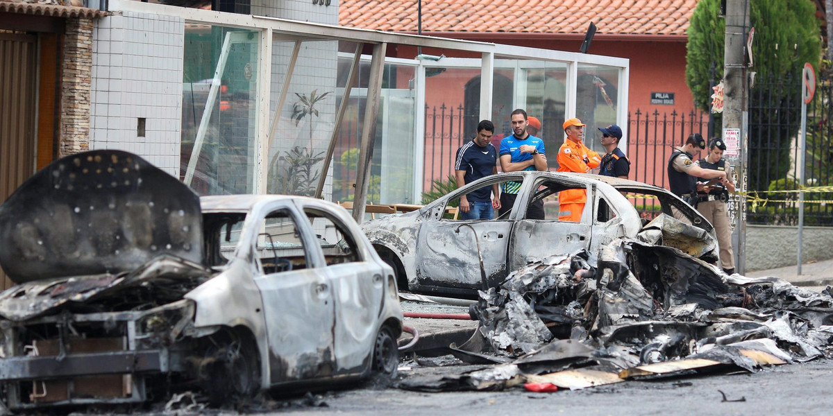
[[[200,369],[200,381],[212,407],[251,399],[260,390],[260,360],[254,339],[228,334],[210,341]]]

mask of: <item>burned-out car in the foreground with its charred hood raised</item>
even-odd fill
[[[332,203],[197,197],[123,151],[53,162],[0,206],[9,409],[212,404],[397,369],[393,270]]]

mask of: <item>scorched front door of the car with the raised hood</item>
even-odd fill
[[[255,244],[269,343],[272,384],[328,377],[336,372],[332,327],[335,302],[320,251],[306,220],[291,205],[258,220]]]

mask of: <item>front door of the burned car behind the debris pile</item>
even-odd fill
[[[446,197],[445,205],[434,208],[436,215],[420,225],[416,237],[416,290],[471,295],[484,288],[484,275],[486,287],[503,281],[514,210],[501,217],[495,215],[493,220],[455,220],[441,213],[448,201],[509,180],[523,182],[523,177],[474,182]]]

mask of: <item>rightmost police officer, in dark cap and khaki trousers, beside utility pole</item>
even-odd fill
[[[719,181],[708,186],[709,179],[698,178],[697,210],[706,220],[715,226],[717,243],[721,249],[721,267],[726,274],[735,273],[735,255],[731,250],[731,226],[729,225],[729,192],[735,191],[735,184],[731,181],[731,165],[723,159],[726,143],[721,139],[714,139],[709,143],[709,153],[705,159],[697,161],[697,165],[711,171],[726,172],[726,181]]]

